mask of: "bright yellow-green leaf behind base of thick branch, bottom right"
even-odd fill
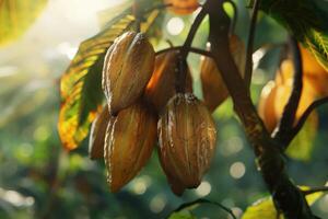
[[[302,191],[309,189],[308,186],[300,186]],[[324,193],[318,192],[306,196],[306,200],[308,205],[313,205],[317,199],[323,196]],[[242,219],[258,219],[258,218],[266,218],[266,219],[283,219],[283,215],[278,215],[273,200],[271,197],[265,197],[251,206],[249,206],[245,214],[243,215]]]

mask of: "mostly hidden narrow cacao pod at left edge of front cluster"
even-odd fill
[[[106,129],[110,120],[113,123],[113,117],[109,114],[108,105],[106,104],[91,126],[89,139],[89,155],[91,159],[104,158]]]

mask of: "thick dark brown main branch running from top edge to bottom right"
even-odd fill
[[[276,207],[286,219],[315,218],[303,193],[288,176],[284,160],[277,141],[270,138],[262,120],[251,103],[248,88],[244,83],[229,48],[230,20],[223,0],[208,0],[204,9],[210,15],[210,43],[212,54],[222,79],[232,96],[234,110],[241,118],[250,140],[262,178],[270,191]]]

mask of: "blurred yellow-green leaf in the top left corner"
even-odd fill
[[[46,3],[47,0],[0,0],[0,46],[22,36]]]

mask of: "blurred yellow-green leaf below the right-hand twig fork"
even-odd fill
[[[309,161],[314,150],[314,139],[318,129],[318,115],[311,114],[302,130],[293,139],[286,154],[295,160]]]

